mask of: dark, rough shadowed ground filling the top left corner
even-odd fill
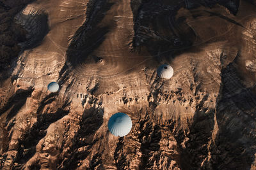
[[[22,49],[19,43],[26,41],[26,30],[15,22],[19,13],[31,0],[8,0],[0,2],[0,76],[1,81],[15,67],[12,60],[16,59]]]

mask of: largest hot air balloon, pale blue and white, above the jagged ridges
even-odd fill
[[[125,113],[115,113],[109,118],[108,129],[115,136],[125,136],[132,129],[132,120]]]

